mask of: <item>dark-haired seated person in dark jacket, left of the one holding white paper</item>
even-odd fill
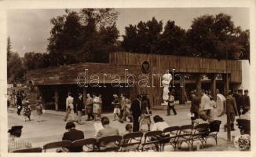
[[[66,130],[68,132],[64,133],[62,141],[76,141],[84,138],[84,134],[80,130],[75,130],[74,122],[67,122]],[[82,147],[73,147],[70,148],[70,152],[82,152]]]

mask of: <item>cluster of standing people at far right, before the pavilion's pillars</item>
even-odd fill
[[[244,95],[238,93],[237,90],[234,93],[229,90],[228,95],[225,97],[223,104],[223,113],[230,115],[230,124],[231,130],[235,130],[234,122],[235,116],[240,116],[240,119],[248,119],[250,120],[250,97],[248,95],[248,90],[244,90]],[[217,89],[217,95],[219,94],[219,90]],[[212,122],[214,121],[215,111],[217,104],[214,100],[214,97],[210,95],[209,92],[204,89],[201,91],[201,97],[196,96],[196,91],[191,91],[191,120],[192,124],[196,122],[196,119],[203,119],[204,121]],[[227,125],[225,124],[225,131],[227,129]]]

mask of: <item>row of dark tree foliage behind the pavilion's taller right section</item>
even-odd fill
[[[121,46],[128,52],[174,54],[218,59],[250,59],[249,31],[235,27],[224,13],[203,15],[192,21],[185,31],[167,21],[153,17],[147,22],[125,27]]]

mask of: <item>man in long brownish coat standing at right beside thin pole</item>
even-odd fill
[[[225,102],[225,113],[230,114],[230,126],[231,130],[235,130],[234,128],[234,121],[235,121],[235,115],[238,115],[238,111],[236,108],[236,100],[234,97],[232,97],[233,93],[232,91],[229,91],[229,95],[226,97],[226,102]],[[227,124],[225,124],[225,131],[227,128]]]

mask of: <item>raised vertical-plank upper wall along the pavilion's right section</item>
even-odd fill
[[[226,73],[231,74],[231,82],[242,82],[242,65],[236,60],[217,60],[198,57],[177,57],[171,55],[156,55],[144,53],[110,53],[110,64],[136,65],[147,60],[152,67],[158,71],[175,69],[176,72],[185,73]],[[226,66],[227,65],[227,66]]]

